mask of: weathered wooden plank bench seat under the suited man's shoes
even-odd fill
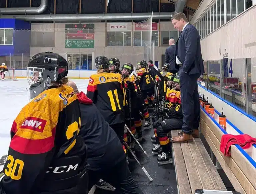
[[[172,137],[178,132],[172,131]],[[196,189],[227,190],[200,138],[172,146],[179,194],[194,194]]]

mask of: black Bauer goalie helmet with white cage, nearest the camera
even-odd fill
[[[29,99],[49,89],[68,74],[68,62],[58,53],[41,52],[28,62],[27,80],[29,83]]]

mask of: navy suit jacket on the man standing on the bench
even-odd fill
[[[188,24],[181,32],[176,43],[176,55],[189,75],[204,73],[200,36],[193,25]]]

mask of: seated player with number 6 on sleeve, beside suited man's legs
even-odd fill
[[[172,86],[173,88],[168,92],[168,98],[170,105],[169,108],[164,109],[167,113],[167,119],[159,119],[154,123],[156,128],[156,140],[159,142],[153,149],[153,153],[160,153],[160,156],[157,158],[159,164],[168,164],[172,163],[172,152],[171,144],[168,134],[171,130],[181,129],[183,124],[183,114],[180,98],[180,76],[178,73],[173,78]]]

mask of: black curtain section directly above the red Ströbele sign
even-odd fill
[[[147,12],[159,12],[158,0],[134,0],[133,12],[134,13],[147,13]]]

